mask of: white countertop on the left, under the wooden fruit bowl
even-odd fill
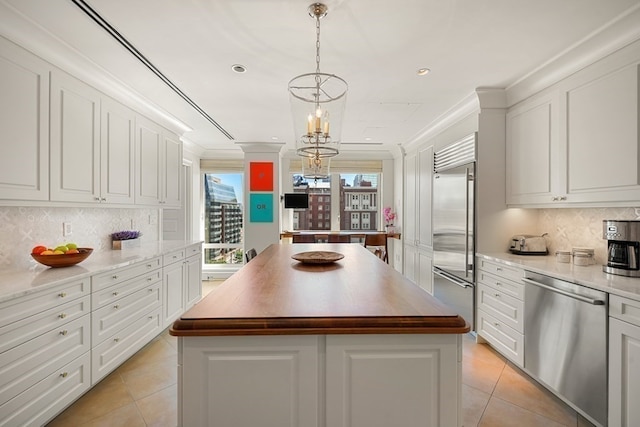
[[[198,243],[202,242],[165,240],[143,243],[137,248],[94,251],[89,258],[72,267],[49,268],[33,260],[32,267],[26,270],[1,269],[0,302],[41,291],[69,280],[82,279],[126,267]]]

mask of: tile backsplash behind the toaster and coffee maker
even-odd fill
[[[607,241],[602,238],[605,219],[640,220],[640,208],[540,209],[538,230],[548,233],[549,253],[574,247],[595,250],[597,264],[607,258]]]

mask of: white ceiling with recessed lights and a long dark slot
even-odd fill
[[[183,123],[183,137],[202,150],[273,141],[294,148],[287,84],[315,70],[310,0],[84,2],[233,139],[74,1],[0,0]],[[349,84],[343,149],[414,141],[477,87],[513,85],[639,3],[326,0],[320,68]],[[247,71],[235,73],[234,64]],[[423,67],[431,72],[418,76]]]

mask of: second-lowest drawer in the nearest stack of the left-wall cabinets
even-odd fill
[[[90,322],[83,316],[0,354],[0,403],[89,351]]]

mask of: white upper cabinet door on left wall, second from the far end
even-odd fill
[[[136,117],[136,204],[160,204],[162,166],[162,128],[152,121]]]

